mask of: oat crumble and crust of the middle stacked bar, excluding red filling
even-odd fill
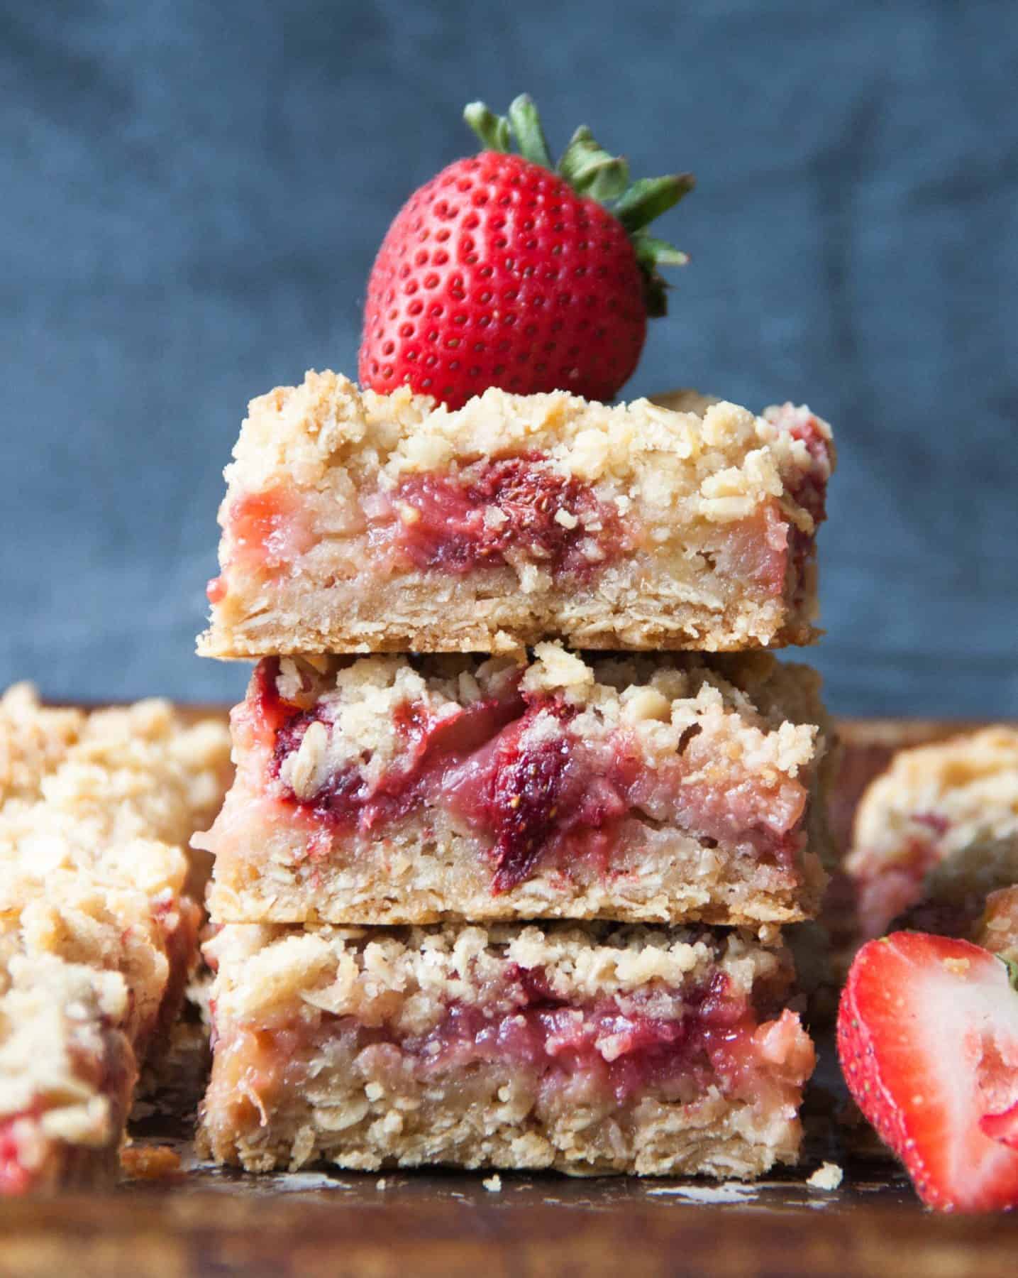
[[[315,818],[315,795],[328,792],[351,762],[370,760],[363,776],[372,786],[384,786],[393,757],[404,766],[401,709],[413,704],[437,722],[452,720],[474,702],[505,695],[520,677],[526,693],[575,712],[561,740],[580,743],[571,746],[580,751],[575,766],[591,771],[591,786],[598,769],[611,774],[619,740],[653,778],[645,809],[632,806],[607,833],[585,836],[582,846],[590,851],[599,841],[600,851],[548,851],[521,882],[496,892],[490,835],[443,801],[447,782],[367,833]],[[217,921],[604,918],[760,927],[800,921],[819,909],[830,727],[819,677],[805,666],[766,653],[585,661],[557,644],[539,644],[526,667],[451,656],[353,665],[284,658],[281,695],[294,709],[314,709],[319,721],[281,767],[276,739],[258,721],[259,680],[234,713],[234,787],[212,829],[195,838],[215,854],[209,910]],[[549,711],[521,740],[563,731]],[[676,797],[664,799],[663,778],[680,757]],[[727,837],[701,837],[697,804],[711,813],[731,804],[745,824],[736,831],[733,818]],[[783,828],[793,819],[803,833],[794,836],[802,846],[789,863],[755,850],[752,840],[769,820]]]

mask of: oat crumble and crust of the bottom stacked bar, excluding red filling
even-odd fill
[[[383,1039],[419,1040],[451,1001],[490,1008],[492,988],[520,969],[539,969],[566,1006],[612,997],[626,1006],[651,988],[665,1003],[681,1001],[723,974],[733,996],[777,1011],[791,988],[787,953],[746,935],[609,924],[238,925],[208,948],[217,1040],[199,1144],[217,1162],[249,1171],[326,1160],[368,1171],[437,1163],[750,1178],[797,1158],[814,1056],[788,1012],[757,1031],[769,1044],[770,1090],[764,1097],[761,1085],[756,1099],[726,1097],[715,1082],[682,1100],[654,1085],[625,1102],[542,1094],[526,1070],[498,1059],[422,1079],[397,1048],[372,1047],[372,1031],[359,1047],[350,1031],[356,1024]],[[608,1058],[613,1048],[602,1051]]]

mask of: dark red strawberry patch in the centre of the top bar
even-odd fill
[[[539,452],[409,475],[386,504],[384,527],[415,569],[452,574],[529,561],[582,576],[616,558],[625,539],[614,507]]]

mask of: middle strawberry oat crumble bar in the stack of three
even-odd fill
[[[282,658],[232,713],[221,923],[811,916],[819,679],[766,653]]]

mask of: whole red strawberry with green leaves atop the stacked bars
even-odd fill
[[[526,96],[508,118],[482,102],[464,116],[484,150],[414,192],[372,267],[361,385],[409,383],[450,408],[488,386],[611,400],[636,367],[648,316],[664,314],[658,267],[686,261],[645,227],[692,176],[630,184],[626,161],[586,127],[553,169]]]

